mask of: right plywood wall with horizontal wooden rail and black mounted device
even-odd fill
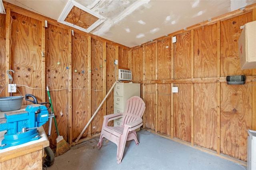
[[[143,84],[147,105],[145,128],[216,155],[247,160],[247,130],[256,130],[256,71],[240,69],[238,39],[240,26],[251,22],[254,12],[238,10],[132,48],[134,81]],[[173,36],[176,43],[171,43]],[[228,75],[246,75],[248,81],[227,85]]]

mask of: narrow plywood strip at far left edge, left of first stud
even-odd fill
[[[6,14],[0,14],[0,91],[4,89],[6,79],[9,78],[5,69],[5,16]],[[4,96],[5,90],[0,93],[0,97]]]

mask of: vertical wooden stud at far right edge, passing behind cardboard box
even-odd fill
[[[256,8],[252,10],[252,21],[256,21]],[[256,75],[256,69],[252,69],[252,75]],[[252,130],[256,130],[256,82],[252,82]]]

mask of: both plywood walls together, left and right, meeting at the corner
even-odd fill
[[[240,69],[238,39],[240,26],[256,18],[255,8],[130,49],[76,29],[72,36],[73,28],[10,4],[6,14],[0,14],[0,90],[8,81],[8,69],[15,71],[14,82],[22,95],[48,101],[49,86],[60,135],[75,144],[116,81],[118,68],[130,69],[133,82],[141,83],[147,106],[144,128],[246,161],[247,129],[256,130],[256,69]],[[171,42],[173,36],[176,43]],[[118,65],[113,64],[115,59]],[[227,75],[246,75],[247,82],[227,85]],[[179,92],[172,93],[172,87]],[[9,94],[0,93],[5,95]],[[110,92],[79,142],[100,133],[103,116],[113,112],[112,101]],[[44,128],[47,131],[48,124]],[[52,125],[51,147],[56,137]]]

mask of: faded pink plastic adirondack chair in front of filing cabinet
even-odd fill
[[[135,140],[138,145],[136,129],[142,126],[142,116],[146,109],[144,101],[138,97],[131,97],[126,101],[126,109],[124,113],[116,113],[104,116],[100,140],[97,144],[98,149],[102,146],[102,139],[107,138],[117,145],[117,163],[120,164],[124,147],[127,140]],[[123,117],[120,127],[109,127],[108,122]]]

